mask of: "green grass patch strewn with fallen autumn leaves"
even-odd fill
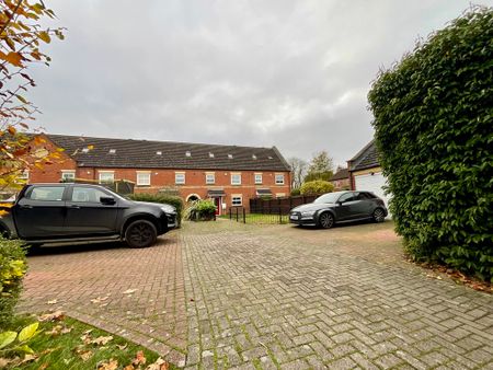
[[[19,333],[34,322],[34,316],[21,316],[10,329]],[[70,317],[41,322],[38,331],[26,343],[32,355],[0,350],[0,369],[147,369],[159,358],[151,350]],[[164,362],[152,369],[173,368]]]

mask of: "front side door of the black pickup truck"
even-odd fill
[[[117,233],[118,199],[114,204],[103,204],[101,197],[112,197],[112,194],[98,187],[71,186],[65,221],[68,234],[91,236]]]

